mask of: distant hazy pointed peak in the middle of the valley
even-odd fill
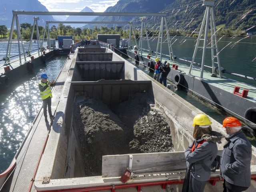
[[[81,12],[93,12],[93,10],[91,10],[88,7],[85,7]],[[65,21],[92,21],[93,19],[95,19],[97,16],[68,16],[68,18]],[[82,27],[84,26],[84,24],[65,24],[65,25],[70,25],[74,28],[78,28],[78,27]]]

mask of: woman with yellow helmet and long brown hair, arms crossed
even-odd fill
[[[185,151],[187,172],[182,192],[203,192],[207,180],[210,178],[211,164],[214,162],[218,147],[224,136],[212,130],[208,116],[198,114],[193,120],[194,142]],[[190,172],[189,172],[190,170]]]

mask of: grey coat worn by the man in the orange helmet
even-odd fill
[[[252,145],[241,130],[226,140],[220,157],[220,174],[230,184],[249,187]]]

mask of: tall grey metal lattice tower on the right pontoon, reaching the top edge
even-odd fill
[[[201,74],[200,74],[200,80],[203,80],[203,74],[204,74],[204,61],[205,61],[205,55],[206,55],[206,50],[207,49],[211,49],[211,53],[212,53],[212,74],[216,76],[215,74],[215,58],[217,58],[217,64],[218,64],[218,74],[220,77],[221,76],[221,66],[220,66],[220,58],[219,58],[219,50],[218,50],[218,40],[217,40],[217,33],[216,33],[216,24],[215,24],[215,16],[214,16],[214,3],[215,0],[203,0],[203,6],[206,6],[206,10],[204,13],[204,19],[202,21],[202,26],[200,28],[200,32],[198,35],[198,39],[196,42],[196,47],[194,50],[194,54],[191,60],[191,64],[190,64],[190,69],[188,74],[191,75],[191,71],[192,71],[192,67],[194,64],[194,60],[196,57],[196,53],[198,48],[202,48],[203,49],[203,53],[202,53],[202,63],[201,63]],[[207,36],[208,36],[208,27],[209,27],[209,20],[210,20],[210,30],[211,30],[211,42],[209,43],[210,46],[208,46],[208,42],[207,42]],[[204,32],[204,38],[201,39],[203,31]],[[200,40],[203,40],[204,45],[203,47],[199,47],[199,42]],[[214,55],[214,50],[216,50],[216,55]]]

